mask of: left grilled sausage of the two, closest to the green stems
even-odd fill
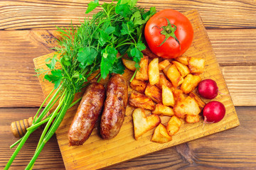
[[[87,86],[68,131],[70,146],[82,145],[90,137],[102,111],[104,100],[105,87],[102,84],[92,83]]]

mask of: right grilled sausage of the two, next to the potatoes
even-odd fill
[[[100,135],[110,140],[115,137],[124,122],[128,102],[127,81],[121,74],[113,74],[107,84],[107,98],[100,122]]]

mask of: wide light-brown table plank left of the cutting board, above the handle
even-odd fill
[[[48,31],[0,31],[0,107],[41,106],[33,58],[53,52],[53,36]]]

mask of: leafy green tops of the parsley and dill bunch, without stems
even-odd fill
[[[156,9],[145,11],[136,3],[137,0],[119,0],[117,4],[112,1],[100,5],[97,0],[91,1],[85,13],[90,13],[97,6],[102,11],[93,14],[92,19],[85,18],[81,26],[71,24],[70,29],[58,28],[62,39],[59,40],[60,47],[55,50],[61,53],[62,71],[66,70],[63,75],[70,77],[68,84],[74,84],[75,89],[79,90],[83,82],[99,69],[98,79],[105,79],[110,73],[123,74],[125,68],[121,58],[125,53],[139,69],[142,50],[146,48],[143,28]],[[54,64],[55,59],[51,59],[50,65]],[[62,77],[56,72],[53,70],[52,75],[45,78],[58,86]]]

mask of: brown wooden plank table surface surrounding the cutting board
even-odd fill
[[[89,1],[0,1],[0,169],[8,162],[16,141],[10,124],[33,116],[43,101],[33,58],[56,45],[55,26],[79,24]],[[102,3],[102,1],[100,2]],[[256,169],[256,1],[149,1],[139,6],[192,9],[201,14],[213,50],[238,113],[240,126],[163,149],[108,169]],[[164,5],[163,5],[164,4]],[[33,134],[11,169],[24,169],[39,139]],[[65,169],[54,137],[34,169]]]

